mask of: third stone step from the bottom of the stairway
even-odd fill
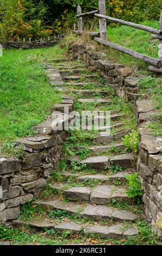
[[[92,187],[70,187],[66,188],[66,184],[49,184],[55,191],[62,191],[63,196],[70,201],[90,202],[90,204],[105,205],[111,200],[116,202],[132,203],[133,199],[126,194],[126,187],[116,187],[114,185],[99,185]]]

